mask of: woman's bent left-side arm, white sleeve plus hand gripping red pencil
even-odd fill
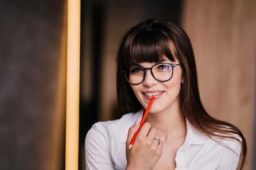
[[[162,155],[162,141],[154,140],[157,136],[156,129],[145,123],[139,131],[135,143],[129,150],[130,141],[138,130],[139,125],[132,126],[126,140],[126,170],[151,170]],[[150,132],[149,132],[150,131]],[[85,137],[85,163],[86,170],[114,170],[109,143],[109,133],[101,124],[96,123],[88,131]],[[125,168],[125,167],[124,167]]]

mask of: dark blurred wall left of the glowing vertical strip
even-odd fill
[[[64,169],[66,8],[0,1],[0,170]]]

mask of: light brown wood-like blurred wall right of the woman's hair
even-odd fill
[[[255,7],[255,0],[185,0],[182,18],[195,53],[202,103],[211,116],[243,132],[245,170],[256,168]]]

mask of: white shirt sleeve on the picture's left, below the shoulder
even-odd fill
[[[109,148],[108,130],[94,124],[85,137],[86,170],[114,170]]]

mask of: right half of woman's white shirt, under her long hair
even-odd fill
[[[186,121],[187,134],[177,155],[183,153],[191,170],[234,170],[239,161],[241,142],[239,135],[207,136]],[[180,152],[182,150],[182,152]],[[193,159],[191,159],[193,157]],[[193,168],[192,168],[193,167]]]

